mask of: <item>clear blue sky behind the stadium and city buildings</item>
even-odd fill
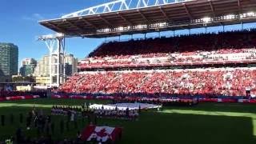
[[[63,14],[69,14],[76,10],[82,10],[90,6],[96,6],[111,0],[0,0],[0,42],[13,42],[19,47],[19,62],[22,58],[42,58],[48,54],[43,42],[36,41],[37,36],[53,34],[46,27],[38,24],[39,20],[60,18]],[[248,25],[253,26],[252,25]],[[248,27],[245,25],[245,28]],[[240,29],[241,26],[226,27],[227,30]],[[191,33],[203,32],[205,29],[191,30]],[[222,27],[209,28],[208,31],[222,30]],[[186,33],[181,30],[176,34]],[[172,32],[163,32],[173,34]],[[147,34],[148,37],[158,34]],[[134,38],[143,37],[141,34]],[[122,39],[130,38],[123,36]],[[77,58],[84,58],[91,50],[94,50],[105,39],[94,38],[68,38],[66,50]]]

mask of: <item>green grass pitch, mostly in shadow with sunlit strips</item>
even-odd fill
[[[6,115],[6,126],[0,126],[0,141],[15,135],[18,126],[30,136],[36,136],[36,130],[26,130],[26,114],[35,105],[37,110],[50,114],[53,105],[81,106],[86,100],[74,99],[33,99],[13,102],[0,102],[0,115]],[[90,101],[106,103],[107,101]],[[24,115],[23,123],[19,114]],[[10,123],[10,114],[14,114],[14,124]],[[66,117],[54,116],[54,139],[75,138],[78,130],[88,125],[87,119],[78,118],[78,129],[72,123],[70,130],[59,132],[59,122]],[[256,143],[256,105],[230,103],[199,103],[194,107],[170,106],[163,111],[142,112],[138,121],[98,119],[98,125],[122,126],[124,144],[143,143],[207,143],[207,144],[255,144]]]

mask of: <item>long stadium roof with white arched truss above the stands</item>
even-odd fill
[[[71,37],[105,38],[256,22],[256,0],[116,0],[39,22]]]

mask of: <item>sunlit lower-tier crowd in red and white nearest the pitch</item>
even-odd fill
[[[59,90],[90,94],[256,94],[256,69],[210,68],[74,74]]]

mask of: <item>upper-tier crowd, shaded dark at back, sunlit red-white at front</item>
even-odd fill
[[[174,38],[150,38],[109,42],[84,59],[79,67],[158,66],[252,62],[256,59],[256,32],[195,34]]]

